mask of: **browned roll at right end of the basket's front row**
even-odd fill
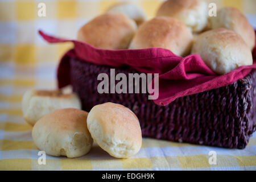
[[[205,64],[220,75],[253,64],[250,48],[242,37],[226,28],[199,35],[193,44],[192,53],[199,54]]]

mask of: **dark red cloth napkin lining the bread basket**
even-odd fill
[[[77,40],[55,38],[39,31],[48,43],[73,42],[74,48],[65,53],[57,69],[59,88],[71,84],[69,60],[77,57],[94,64],[131,68],[144,73],[159,73],[159,97],[155,104],[168,105],[178,97],[188,96],[232,84],[256,68],[256,46],[253,51],[254,64],[243,66],[225,75],[216,75],[205,65],[199,55],[180,57],[163,48],[149,49],[98,49]],[[153,83],[154,84],[154,83]]]

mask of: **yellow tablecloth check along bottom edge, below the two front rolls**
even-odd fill
[[[92,169],[92,162],[90,159],[61,159],[61,168],[63,170]]]

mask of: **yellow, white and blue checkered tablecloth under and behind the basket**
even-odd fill
[[[39,3],[46,17],[39,17]],[[22,118],[23,93],[32,88],[56,88],[56,65],[71,43],[49,45],[37,30],[75,38],[78,28],[117,1],[3,1],[0,0],[0,169],[145,169],[145,170],[256,170],[256,134],[245,150],[230,150],[144,138],[141,150],[130,159],[115,159],[94,143],[89,154],[76,159],[46,156],[38,163],[32,127]],[[161,1],[134,1],[149,17]],[[217,7],[231,5],[248,15],[256,27],[255,0],[210,0]],[[210,151],[217,164],[210,164]],[[209,155],[210,154],[210,155]]]

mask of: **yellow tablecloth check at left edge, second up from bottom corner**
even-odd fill
[[[20,149],[35,149],[35,150],[38,149],[35,146],[34,142],[32,141],[13,141],[13,140],[0,139],[0,146],[1,146],[1,151],[20,150]]]

